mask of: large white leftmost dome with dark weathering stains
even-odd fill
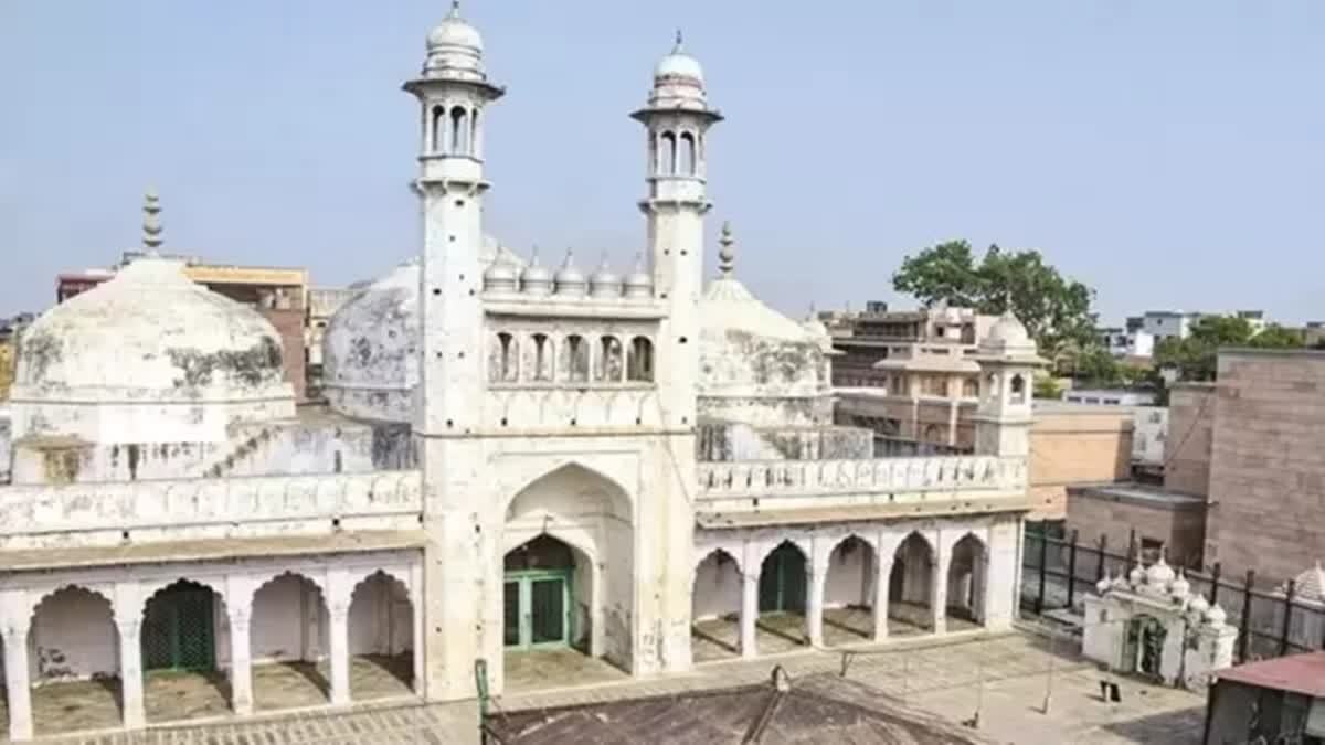
[[[20,343],[16,402],[294,400],[272,323],[180,261],[134,261],[44,313]]]

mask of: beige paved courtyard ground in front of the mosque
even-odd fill
[[[894,640],[886,648],[802,650],[757,660],[726,660],[697,665],[678,676],[644,681],[602,683],[596,675],[602,663],[575,659],[574,652],[507,660],[507,675],[538,668],[521,685],[539,681],[560,685],[556,691],[535,692],[513,685],[494,703],[496,709],[554,707],[608,701],[624,697],[657,696],[700,688],[717,688],[766,681],[774,665],[792,676],[837,672],[861,680],[912,705],[953,720],[967,720],[979,709],[980,730],[1002,742],[1020,745],[1187,745],[1199,741],[1203,721],[1202,697],[1171,688],[1122,680],[1122,703],[1100,700],[1098,681],[1104,673],[1068,651],[1069,643],[1041,636],[1010,634],[984,636],[967,632],[935,644],[933,639]],[[358,665],[356,665],[358,669]],[[576,671],[587,684],[566,687]],[[362,673],[358,673],[362,675]],[[518,676],[517,676],[518,677]],[[399,685],[399,681],[398,681]],[[1052,691],[1048,713],[1045,692]],[[447,733],[468,726],[453,713],[437,707],[367,705],[351,712],[298,712],[261,721],[160,728],[138,734],[111,734],[60,740],[61,745],[280,745],[280,744],[364,744],[448,742]]]

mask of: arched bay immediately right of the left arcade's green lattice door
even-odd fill
[[[282,574],[253,594],[249,620],[253,704],[258,709],[319,707],[330,701],[330,614],[322,589]]]

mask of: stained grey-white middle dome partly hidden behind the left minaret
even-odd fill
[[[327,403],[348,416],[409,422],[419,384],[420,266],[396,266],[335,312],[322,338]]]

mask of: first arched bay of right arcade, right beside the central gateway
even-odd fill
[[[690,656],[694,661],[741,654],[741,567],[714,549],[694,569],[690,587]]]

